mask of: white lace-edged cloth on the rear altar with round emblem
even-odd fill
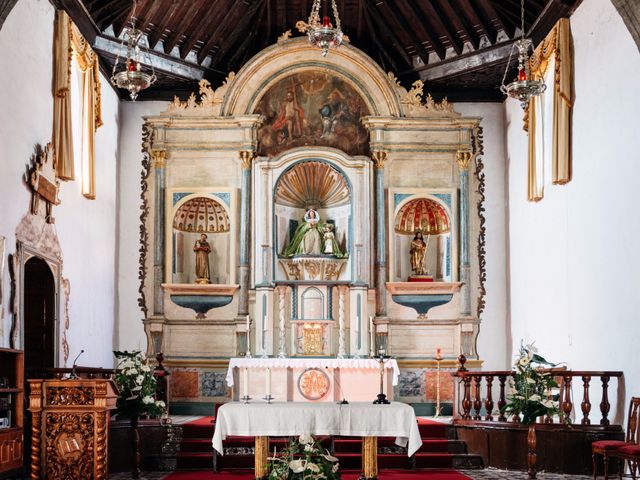
[[[395,358],[384,362],[385,368],[393,370],[392,384],[398,384],[400,368]],[[227,385],[233,386],[234,368],[351,368],[377,370],[380,364],[371,358],[231,358],[227,369]]]

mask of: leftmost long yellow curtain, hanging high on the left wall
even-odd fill
[[[53,40],[53,145],[56,175],[73,180],[73,135],[71,129],[71,29],[69,16],[56,10]]]

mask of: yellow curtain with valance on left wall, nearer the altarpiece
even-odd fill
[[[95,133],[102,125],[100,102],[100,69],[98,56],[73,23],[71,48],[81,72],[80,99],[82,103],[82,194],[96,198],[95,191]]]

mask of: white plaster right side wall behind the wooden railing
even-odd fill
[[[626,405],[640,392],[640,55],[608,0],[584,0],[571,29],[573,180],[547,180],[539,203],[526,201],[522,112],[517,102],[506,104],[510,342],[517,352],[520,339],[535,340],[547,358],[573,369],[623,370]]]

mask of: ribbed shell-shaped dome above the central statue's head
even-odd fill
[[[303,161],[282,174],[275,201],[295,208],[327,208],[349,203],[349,186],[331,165],[316,160]]]

